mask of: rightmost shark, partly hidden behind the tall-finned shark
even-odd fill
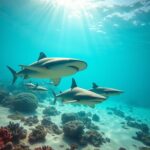
[[[123,93],[123,91],[117,90],[114,88],[100,87],[96,83],[93,83],[93,87],[89,91],[103,95],[105,97],[109,97],[109,96],[113,96],[113,95],[119,95],[119,94]]]

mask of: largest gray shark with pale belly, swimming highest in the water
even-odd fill
[[[13,84],[17,77],[29,78],[49,78],[54,85],[58,85],[62,77],[73,75],[87,68],[87,63],[73,58],[47,58],[41,52],[38,60],[31,65],[20,65],[22,70],[16,72],[7,66],[13,74]]]

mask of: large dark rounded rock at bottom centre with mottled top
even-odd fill
[[[69,121],[63,126],[64,135],[68,138],[80,138],[84,133],[84,124],[81,121]]]

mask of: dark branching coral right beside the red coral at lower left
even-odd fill
[[[19,143],[20,139],[24,139],[27,136],[27,130],[21,127],[19,123],[9,122],[7,129],[11,132],[14,143]]]

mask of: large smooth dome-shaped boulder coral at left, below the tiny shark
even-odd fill
[[[38,107],[38,100],[31,93],[20,93],[15,96],[12,105],[17,111],[30,113]]]

